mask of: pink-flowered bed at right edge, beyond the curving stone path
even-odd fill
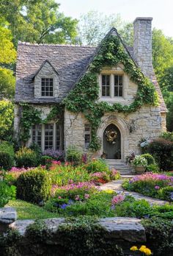
[[[146,173],[125,180],[123,188],[136,191],[146,196],[173,201],[173,177],[166,174]]]

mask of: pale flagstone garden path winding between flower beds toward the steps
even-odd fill
[[[132,175],[130,177],[132,177]],[[123,179],[117,179],[117,180],[114,180],[114,181],[111,181],[111,182],[108,182],[106,184],[101,185],[100,189],[103,190],[103,191],[107,190],[107,189],[111,189],[113,191],[123,191],[124,193],[128,193],[128,195],[133,196],[135,199],[145,199],[147,202],[150,203],[150,205],[164,205],[164,204],[166,204],[166,201],[161,200],[161,199],[155,199],[155,198],[152,198],[150,196],[144,196],[141,193],[136,193],[136,192],[132,192],[132,191],[125,191],[125,189],[122,188],[122,182],[123,182]]]

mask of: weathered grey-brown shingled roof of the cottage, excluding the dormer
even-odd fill
[[[108,35],[117,33],[116,29],[111,29]],[[114,34],[114,35],[115,35]],[[119,37],[120,38],[120,37]],[[120,38],[121,40],[121,38]],[[122,41],[122,40],[121,40]],[[133,48],[125,46],[125,50],[134,61]],[[87,71],[89,63],[92,62],[99,46],[69,46],[56,44],[18,43],[18,59],[16,66],[16,88],[15,102],[29,103],[56,103],[62,102],[67,93],[78,82],[78,79]],[[44,63],[48,61],[54,71],[59,75],[59,98],[45,99],[34,98],[34,76],[40,71]],[[161,89],[154,76],[152,82],[158,92],[160,99],[161,113],[166,112],[166,104],[163,100]]]

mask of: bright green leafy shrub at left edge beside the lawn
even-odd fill
[[[15,199],[15,186],[9,186],[6,182],[0,181],[0,208],[9,202],[9,200]]]

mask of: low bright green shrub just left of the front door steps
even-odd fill
[[[90,161],[87,166],[86,169],[89,173],[95,173],[95,172],[108,172],[108,166],[106,164],[106,162],[104,160],[96,160],[93,159],[92,161]]]

